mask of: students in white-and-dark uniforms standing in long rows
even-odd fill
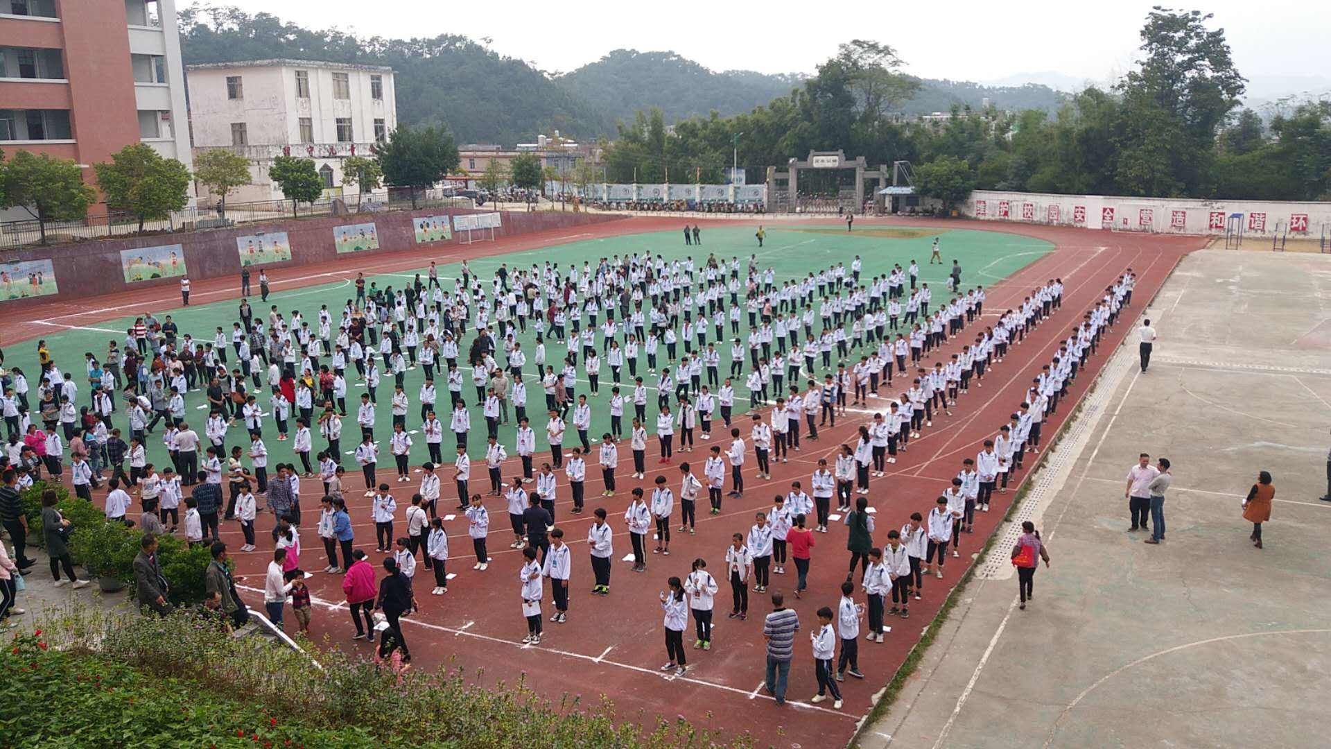
[[[257,485],[258,493],[266,494],[266,509],[277,522],[274,538],[286,538],[285,548],[295,549],[287,552],[293,556],[298,554],[299,544],[299,477],[317,474],[325,490],[325,506],[318,524],[318,534],[329,557],[325,572],[342,573],[350,578],[350,570],[362,561],[357,558],[358,554],[363,556],[353,549],[354,532],[345,500],[349,486],[345,484],[341,445],[342,418],[347,416],[347,380],[354,369],[354,376],[359,377],[355,386],[365,388],[365,392],[359,396],[355,417],[361,441],[353,453],[365,480],[365,494],[373,497],[377,550],[391,554],[385,560],[386,569],[391,561],[390,573],[406,581],[403,590],[410,605],[395,608],[402,609],[398,616],[407,614],[417,606],[410,581],[418,552],[422,553],[422,565],[434,570],[435,586],[431,592],[443,594],[447,590],[449,576],[445,569],[449,536],[438,513],[442,497],[438,472],[443,466],[441,445],[445,433],[435,410],[441,408],[439,398],[443,398],[443,405],[451,406],[447,426],[455,436],[451,478],[459,502],[457,509],[466,518],[467,536],[473,541],[476,560],[473,569],[483,572],[491,561],[487,549],[490,510],[480,493],[471,489],[471,412],[465,402],[469,396],[463,396],[465,376],[459,369],[466,363],[471,368],[475,402],[486,421],[484,465],[490,496],[503,498],[514,534],[511,548],[520,550],[524,560],[518,580],[527,621],[524,642],[539,644],[543,634],[544,616],[540,604],[544,598],[544,580],[550,580],[555,602],[550,620],[563,622],[568,610],[572,562],[564,529],[555,522],[560,492],[556,472],[562,472],[563,481],[568,484],[574,514],[584,510],[590,460],[596,460],[600,468],[604,484],[602,496],[615,496],[619,450],[624,438],[632,454],[634,478],[646,477],[648,388],[644,376],[656,376],[652,389],[656,390],[655,432],[660,449],[658,465],[673,461],[676,433],[677,449],[684,453],[693,452],[695,437],[700,441],[712,440],[712,425],[717,420],[729,434],[729,444],[724,450],[719,444],[711,445],[708,456],[697,461],[696,468],[692,462],[679,465],[680,521],[676,532],[684,538],[695,532],[696,502],[704,488],[711,514],[719,514],[727,474],[731,481],[728,496],[744,496],[744,473],[749,456],[757,466],[756,477],[769,480],[773,462],[785,464],[791,452],[801,450],[801,432],[807,429],[804,438],[817,441],[820,426],[835,428],[839,416],[847,417],[848,401],[851,408],[865,406],[857,412],[868,410],[870,397],[878,397],[880,389],[893,388],[896,378],[905,377],[898,393],[882,396],[888,401],[886,406],[876,410],[868,424],[857,428],[856,438],[835,450],[832,462],[827,457],[817,461],[819,468],[809,478],[808,493],[800,481],[792,482],[791,490],[777,496],[769,510],[756,513],[747,533],[733,534],[724,554],[723,580],[732,589],[732,618],[747,617],[751,581],[753,590],[767,592],[771,574],[785,573],[788,556],[799,577],[795,594],[803,596],[811,549],[815,545],[813,533],[828,532],[833,514],[832,497],[836,496],[837,510],[844,513],[844,524],[848,526],[851,574],[856,565],[861,568],[861,588],[868,596],[868,606],[856,609],[856,620],[858,613],[868,613],[869,633],[881,641],[884,597],[889,593],[892,596],[893,608],[888,613],[908,616],[908,601],[910,597],[918,600],[922,576],[936,565],[937,576],[942,577],[949,542],[953,556],[958,556],[958,534],[970,530],[974,510],[988,510],[994,490],[1006,492],[1008,477],[1022,466],[1024,453],[1037,449],[1042,416],[1057,408],[1066,384],[1075,377],[1078,363],[1083,363],[1086,353],[1094,351],[1101,331],[1113,323],[1118,307],[1130,300],[1131,292],[1129,272],[1106,289],[1105,299],[1086,313],[1062,344],[1059,356],[1036,377],[1021,412],[1014,413],[1010,424],[1002,425],[1000,433],[985,442],[976,458],[965,460],[953,486],[929,510],[928,521],[920,513],[913,513],[901,530],[889,532],[886,545],[874,546],[873,516],[866,501],[870,477],[886,476],[886,465],[896,462],[912,438],[918,438],[936,417],[950,416],[958,397],[968,393],[970,386],[981,386],[986,371],[1004,360],[1009,347],[1022,341],[1062,301],[1062,283],[1051,279],[1034,288],[1020,304],[998,315],[993,325],[984,325],[981,319],[985,292],[981,287],[961,292],[958,284],[957,293],[930,313],[930,291],[928,284],[917,285],[917,276],[918,268],[912,261],[909,271],[897,265],[890,272],[861,283],[861,260],[856,257],[849,268],[836,264],[779,284],[772,268],[759,268],[756,256],[751,256],[747,271],[741,273],[737,257],[727,263],[709,256],[704,264],[695,267],[692,257],[685,261],[666,261],[660,256],[632,255],[624,259],[602,259],[595,268],[587,263],[580,271],[570,267],[567,273],[558,264],[550,263],[511,273],[503,265],[494,275],[487,293],[486,284],[466,263],[462,264],[461,277],[455,280],[453,291],[443,291],[431,264],[427,280],[418,276],[413,284],[398,291],[379,291],[374,284],[366,289],[365,280],[358,279],[357,299],[347,300],[342,319],[335,325],[326,305],[319,309],[314,321],[306,321],[299,312],[293,312],[290,317],[282,316],[274,307],[265,324],[252,311],[246,312],[246,303],[242,303],[241,320],[233,325],[232,335],[228,336],[218,327],[214,340],[209,343],[201,343],[206,339],[193,340],[189,335],[180,336],[173,327],[136,324],[126,336],[125,349],[133,347],[140,360],[150,361],[150,365],[146,376],[134,378],[126,389],[125,408],[129,410],[132,441],[124,445],[118,429],[110,429],[97,446],[105,450],[102,454],[117,478],[124,473],[121,462],[129,457],[130,473],[124,474],[124,482],[140,484],[141,477],[153,476],[142,448],[145,434],[157,422],[157,418],[149,417],[149,412],[158,410],[156,401],[145,393],[160,390],[182,397],[192,389],[190,385],[206,388],[208,442],[201,461],[197,453],[201,440],[197,433],[182,417],[177,417],[176,409],[169,404],[165,409],[168,426],[164,440],[172,462],[178,466],[176,473],[185,477],[186,485],[197,480],[205,485],[216,485],[218,493],[224,472],[228,474],[232,502],[225,518],[233,517],[233,508],[240,506],[240,514],[234,517],[238,517],[245,530],[244,550],[254,548],[256,510],[253,501],[237,500],[252,497],[250,482]],[[745,315],[747,344],[739,337],[740,321]],[[716,331],[711,341],[709,319]],[[821,320],[821,328],[815,333],[817,320]],[[735,393],[731,377],[723,380],[720,376],[717,345],[724,345],[727,324],[732,336],[729,373],[732,377],[740,376],[745,365],[748,368],[747,400],[752,408],[744,420],[733,409],[737,408],[737,401],[745,398]],[[946,359],[938,357],[932,368],[924,365],[925,355],[940,349],[949,340],[960,340],[958,336],[972,324],[982,325],[973,343],[968,340],[961,351]],[[474,337],[470,348],[463,352],[459,343],[469,325],[473,327]],[[536,336],[531,361],[538,378],[532,382],[534,386],[539,382],[546,397],[544,432],[551,452],[551,460],[543,462],[539,472],[534,465],[535,432],[527,414],[526,388],[531,372],[527,371],[527,352],[516,341],[516,336],[527,331],[528,325]],[[552,361],[547,363],[547,340],[566,341],[558,371]],[[116,343],[112,343],[110,351],[116,351]],[[234,352],[237,357],[236,367],[230,371],[226,368],[229,352]],[[377,473],[377,385],[381,374],[375,353],[385,371],[394,377],[394,393],[389,404],[393,414],[389,449],[394,456],[397,481],[411,481],[413,433],[423,433],[431,458],[422,465],[419,490],[406,505],[407,534],[403,537],[394,536],[398,502],[391,494],[390,484],[379,482]],[[856,353],[860,360],[848,364]],[[606,404],[611,428],[603,433],[594,450],[588,438],[592,406],[587,394],[600,397],[602,356],[611,371],[611,392]],[[658,357],[664,364],[659,371]],[[643,374],[638,374],[642,359],[646,359],[646,367]],[[833,359],[837,361],[835,367]],[[91,355],[88,367],[89,381],[96,369],[97,392],[104,393],[106,369]],[[425,382],[418,392],[419,416],[413,418],[405,377],[417,367],[423,369]],[[43,368],[43,386],[59,388],[59,382],[51,377],[55,364],[49,355]],[[631,392],[620,388],[627,388],[622,372],[624,368],[634,381]],[[435,389],[435,376],[447,389],[446,393]],[[118,373],[113,377],[113,386],[120,385],[116,380]],[[801,380],[807,386],[797,384]],[[272,390],[269,409],[265,410],[257,396],[249,392],[249,382],[253,382],[256,390],[266,382]],[[576,393],[582,389],[580,384],[590,385],[590,389]],[[676,405],[673,412],[672,400]],[[772,408],[764,417],[763,409],[769,404]],[[508,453],[499,442],[499,426],[508,424],[510,405],[518,424],[514,449],[522,469],[519,476],[512,476],[504,484]],[[98,414],[92,421],[110,426],[112,413],[117,410],[114,405],[95,401],[95,406]],[[634,417],[626,432],[623,417],[630,406]],[[322,409],[317,418],[315,408]],[[301,468],[295,462],[280,464],[281,480],[269,481],[265,424],[276,422],[277,440],[285,441],[293,416],[293,452]],[[563,450],[568,432],[566,418],[571,420],[578,438],[567,460]],[[244,421],[249,444],[245,448],[233,446],[228,452],[226,434],[237,420]],[[409,432],[409,420],[418,421],[419,430]],[[747,434],[740,430],[743,421],[751,422]],[[21,422],[20,414],[20,425]],[[96,424],[92,428],[95,433],[98,432]],[[317,428],[326,442],[326,448],[313,462],[311,428]],[[24,452],[19,462],[27,462],[25,457]],[[116,457],[120,460],[112,460]],[[245,457],[250,460],[249,468],[242,462]],[[76,456],[76,462],[79,460]],[[196,466],[201,468],[197,473]],[[96,480],[91,478],[89,482],[95,484]],[[160,480],[150,482],[161,486]],[[651,494],[643,488],[631,489],[623,522],[634,549],[631,569],[635,572],[646,570],[647,534],[654,530],[656,545],[652,553],[671,554],[676,497],[669,484],[666,476],[658,476]],[[280,486],[277,492],[272,490],[274,485]],[[174,492],[177,489],[172,489]],[[853,494],[858,497],[852,508]],[[212,510],[216,517],[216,505]],[[595,508],[592,514],[595,520],[587,533],[595,578],[592,593],[606,596],[610,593],[615,532],[604,508]],[[165,522],[165,514],[162,520]],[[174,517],[172,521],[174,525]],[[213,537],[217,537],[216,525]],[[342,556],[341,561],[338,553]],[[906,581],[900,582],[901,578]],[[680,616],[681,606],[695,618],[693,648],[709,650],[711,612],[719,584],[708,572],[705,560],[695,558],[684,578],[668,578],[668,593],[663,592],[662,605],[668,633],[669,666],[683,673],[687,664],[681,633],[687,616]],[[398,600],[403,596],[390,597]],[[357,609],[353,609],[353,614],[359,630]],[[390,630],[406,652],[398,617],[391,618]],[[848,646],[844,645],[845,633],[852,629],[844,605],[839,609],[836,621],[843,632],[837,677],[843,673],[858,676],[856,652],[851,648],[848,653]],[[856,625],[849,641],[855,642],[857,634]]]

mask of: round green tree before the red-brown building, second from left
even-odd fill
[[[144,231],[148,219],[166,219],[189,203],[189,169],[174,159],[162,159],[144,143],[133,143],[93,164],[106,207],[126,211]]]

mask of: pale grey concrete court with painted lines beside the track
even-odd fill
[[[1195,252],[1145,316],[1149,372],[1134,333],[1018,510],[1053,560],[1034,602],[1000,544],[861,746],[1331,745],[1331,256]],[[1174,466],[1159,546],[1127,532],[1139,452]]]

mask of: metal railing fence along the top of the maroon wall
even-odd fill
[[[451,191],[429,189],[417,192],[415,208],[475,208],[470,197],[453,195]],[[409,192],[398,191],[365,193],[363,196],[315,200],[297,203],[290,200],[262,200],[254,203],[228,204],[225,215],[218,205],[200,205],[176,211],[166,219],[152,219],[138,228],[138,219],[126,213],[106,213],[88,216],[73,221],[4,221],[0,223],[0,249],[16,249],[25,245],[61,244],[91,239],[132,237],[164,232],[193,232],[250,224],[254,221],[274,221],[281,219],[305,219],[310,216],[337,216],[347,213],[377,213],[383,211],[410,211],[413,201]]]

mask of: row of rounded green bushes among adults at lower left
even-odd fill
[[[28,541],[45,545],[41,532],[41,493],[55,488],[60,502],[56,509],[72,525],[69,553],[75,562],[92,577],[113,577],[133,586],[134,556],[138,554],[144,532],[120,522],[108,522],[102,508],[71,496],[69,490],[55,484],[48,486],[37,481],[23,492],[23,509],[28,516]],[[176,604],[194,604],[204,600],[204,573],[210,554],[206,545],[190,548],[184,540],[161,534],[157,540],[157,558],[162,574],[170,582],[170,600]]]

